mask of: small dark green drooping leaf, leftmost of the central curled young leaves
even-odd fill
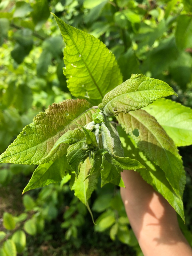
[[[67,149],[67,162],[78,177],[81,164],[89,155],[90,149],[83,141],[70,145]]]

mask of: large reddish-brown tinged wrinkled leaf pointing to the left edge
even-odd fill
[[[55,141],[65,132],[77,128],[71,121],[85,125],[92,121],[91,115],[95,111],[89,102],[82,99],[54,103],[23,129],[0,156],[0,162],[32,165],[54,161],[66,153],[68,145],[61,144],[50,159],[42,158],[49,154]]]

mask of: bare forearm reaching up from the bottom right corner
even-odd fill
[[[192,256],[173,207],[139,173],[124,170],[121,197],[145,256]]]

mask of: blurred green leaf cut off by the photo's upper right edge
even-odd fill
[[[178,48],[192,48],[192,17],[180,15],[177,19],[175,39]]]

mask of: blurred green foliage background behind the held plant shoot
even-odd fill
[[[171,99],[192,107],[191,0],[0,0],[0,153],[37,113],[73,98],[50,12],[104,42],[124,81],[131,73],[161,79],[178,93]],[[192,147],[179,151],[187,174],[179,223],[192,246]],[[117,186],[93,193],[94,226],[66,177],[21,196],[34,169],[0,165],[0,256],[143,255]]]

